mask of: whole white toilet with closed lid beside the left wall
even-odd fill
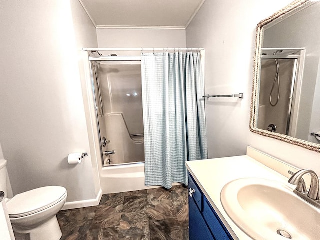
[[[62,186],[44,186],[15,195],[13,198],[6,160],[0,160],[0,190],[14,232],[30,240],[59,240],[62,232],[56,214],[63,207],[67,192]]]

